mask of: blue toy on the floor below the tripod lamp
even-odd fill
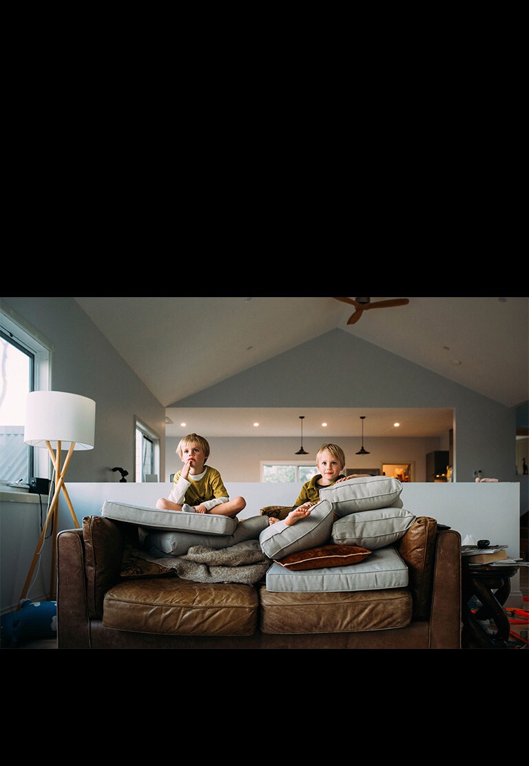
[[[15,649],[18,643],[36,638],[57,637],[57,601],[30,601],[0,617],[2,644]]]

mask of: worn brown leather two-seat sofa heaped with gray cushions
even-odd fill
[[[275,593],[123,577],[137,529],[86,516],[57,535],[59,649],[459,649],[461,537],[420,516],[394,545],[407,588]]]

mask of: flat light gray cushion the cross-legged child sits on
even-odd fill
[[[233,535],[238,519],[221,516],[220,513],[184,513],[162,511],[158,508],[133,506],[129,502],[105,500],[101,516],[118,522],[129,522],[154,529],[179,529],[181,532],[197,532],[201,535]]]

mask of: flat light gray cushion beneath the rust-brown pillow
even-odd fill
[[[292,571],[276,562],[266,572],[269,591],[315,593],[405,588],[408,568],[395,548],[380,548],[358,564]]]

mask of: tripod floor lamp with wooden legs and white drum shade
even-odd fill
[[[38,561],[38,555],[44,545],[44,538],[51,525],[53,548],[51,555],[50,600],[55,597],[55,557],[57,550],[57,519],[59,515],[59,496],[64,493],[73,523],[79,528],[70,496],[64,483],[64,477],[70,465],[74,450],[92,450],[96,430],[96,402],[78,394],[66,394],[64,391],[31,391],[26,400],[26,422],[24,442],[31,447],[46,447],[55,469],[55,492],[47,511],[46,521],[35,550],[28,577],[24,583],[20,602],[26,597],[31,578]],[[55,451],[54,451],[55,450]],[[63,450],[67,456],[61,467]]]

